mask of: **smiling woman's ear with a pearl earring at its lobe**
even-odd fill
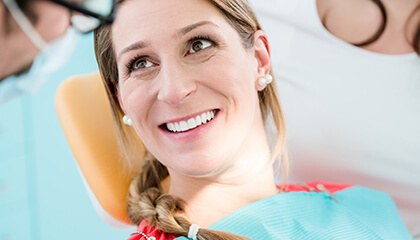
[[[267,35],[262,30],[258,30],[254,34],[254,50],[257,60],[257,79],[259,79],[269,74],[271,70],[270,44]],[[258,90],[262,89],[258,87]]]

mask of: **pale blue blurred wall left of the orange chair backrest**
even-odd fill
[[[95,212],[58,121],[58,85],[97,71],[93,35],[35,94],[0,104],[0,240],[127,239]]]

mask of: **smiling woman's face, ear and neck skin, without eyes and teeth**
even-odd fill
[[[126,1],[118,14],[112,37],[121,106],[168,167],[169,193],[187,202],[191,221],[209,226],[276,194],[257,87],[270,70],[266,35],[258,31],[245,49],[205,0]],[[141,68],[132,68],[133,58]],[[187,132],[159,127],[214,109],[212,121]]]

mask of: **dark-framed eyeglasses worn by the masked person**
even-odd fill
[[[73,14],[71,24],[82,33],[94,31],[102,24],[115,19],[116,0],[49,0],[78,14]]]

